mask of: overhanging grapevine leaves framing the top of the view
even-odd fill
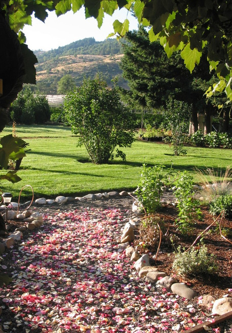
[[[31,24],[33,13],[44,21],[47,11],[56,11],[59,16],[70,10],[75,13],[82,6],[85,17],[95,17],[99,27],[105,14],[112,15],[122,7],[133,8],[138,23],[148,27],[150,40],[159,40],[168,57],[179,50],[190,72],[199,64],[207,45],[210,69],[215,69],[218,76],[218,81],[207,94],[211,96],[215,91],[225,91],[227,102],[232,101],[232,0],[3,0],[0,9],[10,28],[24,43],[22,28]],[[116,20],[113,29],[111,36],[123,36],[129,30],[128,19],[124,22]],[[35,59],[26,46],[21,49],[24,59],[27,59],[27,69]],[[33,81],[35,73],[31,74],[32,77],[27,76]]]

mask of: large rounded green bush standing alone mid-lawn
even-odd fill
[[[130,147],[134,140],[132,114],[121,103],[117,86],[109,89],[102,78],[85,79],[81,87],[69,92],[64,111],[94,163],[108,163],[116,146]],[[125,160],[118,148],[115,157]]]

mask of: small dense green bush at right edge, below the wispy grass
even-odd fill
[[[222,210],[225,216],[232,218],[232,195],[220,196],[210,203],[210,214],[219,215]]]

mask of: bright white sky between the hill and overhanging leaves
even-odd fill
[[[23,32],[30,50],[49,51],[88,37],[94,37],[97,41],[105,40],[111,32],[114,32],[113,22],[116,19],[123,22],[126,18],[126,9],[117,10],[112,17],[105,15],[103,25],[99,29],[96,19],[85,19],[83,8],[75,14],[70,11],[59,17],[55,12],[49,12],[45,23],[32,17],[32,25],[26,25]],[[130,14],[128,19],[129,29],[137,29],[137,20]]]

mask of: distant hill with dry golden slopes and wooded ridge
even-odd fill
[[[116,39],[96,41],[95,38],[85,38],[56,50],[34,53],[38,59],[36,86],[45,94],[56,94],[58,81],[66,74],[72,75],[76,85],[80,85],[84,76],[94,78],[101,72],[108,85],[117,76],[118,84],[128,87],[119,68],[122,49]]]

